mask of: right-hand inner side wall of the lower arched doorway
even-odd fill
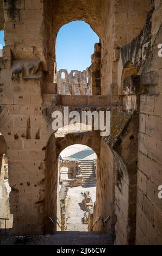
[[[101,230],[105,233],[114,234],[116,222],[115,162],[112,151],[103,140],[101,141],[100,156],[99,159],[97,159],[96,173],[97,188],[94,222],[99,216],[101,216],[103,220],[110,216],[110,220],[105,224],[105,227],[103,227],[101,221],[98,221],[94,230]],[[102,204],[100,202],[102,202]]]

